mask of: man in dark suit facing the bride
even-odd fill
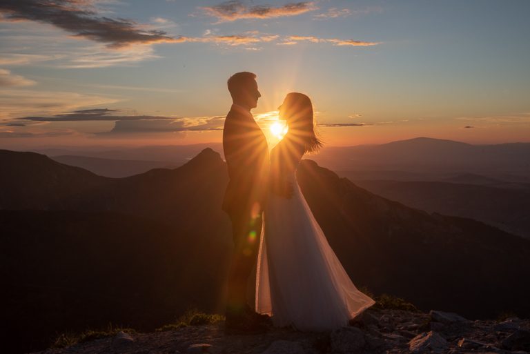
[[[264,331],[267,317],[255,313],[246,301],[262,233],[270,164],[265,135],[251,114],[262,96],[255,78],[252,72],[237,72],[228,79],[233,104],[224,122],[223,149],[230,181],[222,208],[232,222],[235,250],[228,274],[227,333]]]

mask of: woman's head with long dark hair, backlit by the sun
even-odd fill
[[[306,153],[322,147],[322,141],[315,135],[313,104],[309,97],[298,92],[288,93],[278,110],[279,119],[284,119],[289,127],[286,137],[302,144]]]

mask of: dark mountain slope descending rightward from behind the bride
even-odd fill
[[[530,242],[472,219],[429,215],[302,161],[298,181],[355,284],[422,309],[528,316]],[[516,270],[517,271],[514,271]],[[517,305],[516,305],[517,304]]]

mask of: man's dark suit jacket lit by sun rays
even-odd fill
[[[223,210],[229,215],[251,209],[261,213],[268,193],[267,141],[251,112],[235,104],[224,121],[223,150],[230,178]]]

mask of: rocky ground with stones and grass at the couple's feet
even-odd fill
[[[224,335],[224,324],[188,326],[155,333],[120,332],[39,354],[349,354],[530,352],[530,319],[471,321],[455,313],[402,310],[365,311],[351,326],[332,333],[271,328],[259,335]]]

